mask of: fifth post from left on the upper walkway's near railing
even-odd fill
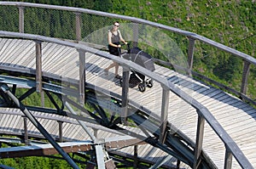
[[[197,110],[199,111],[199,110]],[[205,118],[201,115],[200,112],[198,114],[197,121],[197,132],[196,132],[196,141],[195,141],[195,156],[194,156],[194,165],[193,168],[198,168],[201,163],[201,151],[202,151],[202,142],[204,136],[204,127],[205,127]]]

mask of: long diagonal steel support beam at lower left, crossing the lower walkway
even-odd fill
[[[13,93],[9,91],[9,87],[6,84],[0,83],[0,88],[6,93],[10,99],[14,101],[17,107],[26,115],[26,117],[32,122],[32,124],[38,128],[46,139],[48,139],[49,143],[53,145],[53,147],[62,155],[62,157],[67,161],[67,163],[73,168],[79,169],[79,166],[70,158],[67,153],[61,149],[61,146],[55,142],[55,140],[50,136],[50,134],[44,129],[44,127],[39,123],[39,121],[30,113],[29,110],[20,102],[19,99],[15,97]]]

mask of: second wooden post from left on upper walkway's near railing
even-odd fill
[[[79,52],[79,101],[85,102],[85,51],[78,49]]]

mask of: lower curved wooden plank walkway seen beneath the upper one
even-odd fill
[[[89,135],[84,132],[84,129],[79,125],[78,121],[74,120],[73,118],[33,111],[32,114],[38,119],[38,121],[40,121],[46,131],[48,131],[53,138],[59,138],[59,124],[57,121],[62,121],[63,141],[77,141],[80,142],[80,144],[84,144],[86,141],[91,140]],[[22,133],[24,133],[24,117],[22,115],[23,113],[17,109],[0,108],[0,133],[4,133],[6,135],[12,133],[14,135],[21,136]],[[152,164],[155,164],[156,162],[161,161],[161,159],[168,156],[166,152],[160,149],[156,149],[149,144],[143,144],[141,140],[136,140],[129,136],[125,136],[121,132],[90,123],[86,123],[86,126],[90,128],[92,133],[94,133],[95,130],[97,131],[96,138],[102,139],[102,142],[106,143],[106,148],[108,151],[113,155],[125,154],[126,157],[133,158],[134,146],[132,145],[138,144],[137,154],[140,160],[147,161],[148,163],[152,162]],[[30,136],[34,138],[44,138],[44,136],[38,131],[36,127],[32,125],[32,122],[30,121],[27,121],[27,130]],[[2,140],[0,138],[0,142],[1,141]],[[90,144],[90,142],[88,142],[88,144]],[[15,150],[17,149],[19,148],[16,148]],[[90,150],[90,148],[88,149]],[[3,157],[5,154],[8,154],[9,151],[13,150],[0,149]],[[46,153],[44,153],[44,155],[47,155]],[[175,167],[176,162],[176,158],[172,157],[170,161],[165,163],[165,166]],[[181,168],[189,168],[189,166],[182,163]]]

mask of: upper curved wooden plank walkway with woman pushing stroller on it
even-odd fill
[[[43,70],[63,78],[79,79],[79,55],[73,48],[65,48],[52,43],[42,43]],[[113,70],[108,75],[103,69],[112,63],[95,54],[86,54],[86,81],[111,92],[121,94],[119,81],[113,78]],[[34,42],[24,40],[0,39],[0,68],[36,68]],[[188,76],[178,74],[159,65],[155,65],[157,75],[165,77],[169,82],[188,93],[194,99],[207,107],[217,121],[234,139],[248,161],[256,168],[256,110],[241,102],[240,99],[228,93],[196,82]],[[122,69],[119,68],[119,75]],[[162,88],[154,82],[152,88],[144,93],[137,87],[130,88],[129,99],[144,108],[151,110],[154,115],[160,115]],[[3,121],[3,118],[1,118]],[[174,93],[170,94],[168,121],[195,141],[197,113],[196,110]],[[224,166],[224,144],[206,123],[203,149],[218,167]],[[240,168],[233,158],[232,168]]]

